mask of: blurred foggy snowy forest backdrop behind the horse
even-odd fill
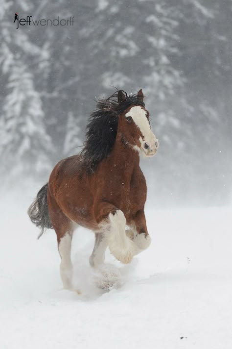
[[[20,26],[20,18],[73,26]],[[94,99],[146,96],[148,202],[232,201],[232,1],[0,0],[0,182],[35,196],[80,151]]]

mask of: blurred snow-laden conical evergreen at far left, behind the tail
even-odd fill
[[[39,177],[50,169],[53,151],[33,76],[18,61],[8,78],[1,115],[0,157],[4,174]]]

